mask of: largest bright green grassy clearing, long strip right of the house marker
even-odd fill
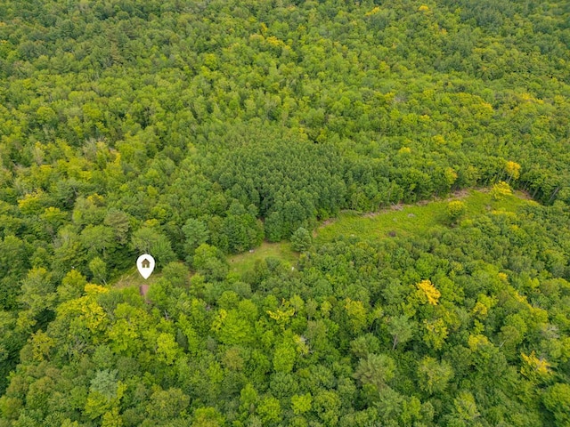
[[[471,189],[445,200],[398,205],[376,214],[342,213],[336,220],[327,222],[316,230],[315,241],[330,242],[338,236],[377,240],[390,235],[421,235],[432,227],[449,223],[447,204],[452,200],[462,200],[465,203],[467,212],[464,218],[474,218],[487,211],[517,212],[520,206],[535,203],[521,192],[494,200],[486,190]]]

